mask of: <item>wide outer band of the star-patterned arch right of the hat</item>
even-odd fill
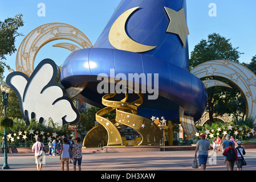
[[[243,94],[246,102],[246,118],[256,123],[256,76],[250,69],[229,60],[207,61],[191,71],[198,78],[218,76],[231,81]]]

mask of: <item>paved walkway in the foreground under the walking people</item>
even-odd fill
[[[219,152],[211,155],[209,152],[207,171],[226,171],[224,157]],[[116,153],[84,153],[83,171],[200,171],[193,169],[194,151],[165,152],[116,152]],[[247,166],[244,171],[256,170],[256,149],[246,149]],[[36,171],[35,159],[32,153],[8,154],[10,169],[0,171]],[[0,167],[3,164],[3,154],[0,154]],[[46,156],[46,164],[42,171],[60,171],[59,156]],[[234,170],[237,170],[235,165]],[[73,171],[73,164],[70,164]]]

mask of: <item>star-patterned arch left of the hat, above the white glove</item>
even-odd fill
[[[45,44],[54,40],[66,39],[77,43],[82,48],[92,47],[92,43],[78,28],[66,23],[47,23],[32,30],[23,40],[16,56],[16,69],[19,72],[30,76],[34,71],[34,61],[36,54]],[[70,43],[55,44],[55,47],[67,48],[70,51],[80,49]],[[66,47],[65,47],[66,46]],[[67,89],[68,97],[77,96],[85,87],[86,83],[79,84],[77,87]]]

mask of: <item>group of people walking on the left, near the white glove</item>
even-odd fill
[[[59,149],[59,158],[61,162],[61,169],[64,171],[64,164],[66,163],[66,170],[69,171],[69,163],[73,160],[73,168],[76,171],[76,164],[78,164],[78,170],[81,171],[82,164],[82,143],[79,137],[75,138],[75,143],[72,140],[72,137],[69,139],[64,138],[63,142],[59,140],[58,145],[56,141],[48,143],[49,146],[49,155],[55,155],[56,150]],[[36,138],[36,142],[32,146],[32,152],[35,152],[35,163],[38,171],[41,171],[43,166],[43,159],[45,159],[45,149],[40,138]]]

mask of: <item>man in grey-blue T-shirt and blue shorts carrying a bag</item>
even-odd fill
[[[195,157],[197,157],[197,151],[198,151],[198,162],[201,166],[201,169],[205,171],[206,168],[206,162],[208,159],[208,150],[210,150],[210,142],[205,139],[205,134],[200,135],[201,140],[198,140],[196,144],[196,152],[194,154]]]

